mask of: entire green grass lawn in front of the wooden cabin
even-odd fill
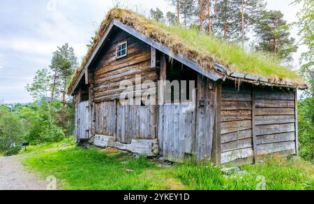
[[[280,157],[243,166],[241,170],[248,172],[244,175],[223,175],[220,168],[206,164],[169,167],[114,149],[100,152],[78,147],[34,154],[24,165],[43,177],[57,177],[59,189],[314,189],[312,163]]]

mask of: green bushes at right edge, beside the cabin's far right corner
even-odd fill
[[[308,161],[314,159],[314,99],[299,102],[300,156]]]

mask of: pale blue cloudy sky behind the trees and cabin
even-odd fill
[[[267,0],[267,9],[281,10],[285,20],[296,21],[298,6],[291,0]],[[0,101],[32,101],[27,84],[40,68],[49,66],[52,52],[69,43],[82,60],[87,43],[112,8],[112,0],[1,0],[0,1]],[[173,10],[164,0],[126,0],[124,5],[149,15],[150,8]],[[297,29],[292,36],[298,38]],[[301,51],[294,54],[295,66]]]

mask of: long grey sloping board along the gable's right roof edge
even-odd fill
[[[192,68],[193,70],[197,71],[198,73],[200,73],[200,74],[206,76],[207,78],[213,80],[214,82],[216,82],[218,80],[225,80],[224,74],[218,74],[214,70],[205,70],[204,68],[201,68],[195,61],[192,61],[192,60],[186,58],[182,54],[173,54],[173,52],[169,48],[165,47],[164,45],[161,45],[160,43],[152,40],[151,38],[148,38],[147,36],[144,36],[139,31],[136,31],[132,27],[129,27],[129,26],[119,22],[118,20],[114,20],[113,23],[116,27],[123,29],[124,31],[135,36],[136,38],[139,38],[141,41],[144,41],[145,43],[151,45],[152,47],[156,48],[157,50],[160,50],[161,52],[167,54],[168,56],[172,57],[173,59],[180,61],[182,64],[185,64],[186,66]]]

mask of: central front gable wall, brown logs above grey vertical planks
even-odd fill
[[[116,59],[117,45],[124,41],[128,43],[127,56]],[[156,67],[151,66],[151,46],[116,29],[94,67],[94,135],[110,136],[114,142],[122,144],[156,139],[156,105],[121,105],[119,101],[121,93],[126,91],[120,88],[121,81],[130,80],[135,85],[138,75],[141,83],[157,81]]]

